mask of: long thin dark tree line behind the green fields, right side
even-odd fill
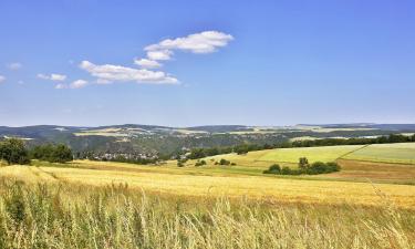
[[[212,147],[212,148],[194,148],[187,156],[189,159],[199,159],[208,156],[220,154],[237,153],[239,155],[248,152],[271,149],[271,148],[292,148],[292,147],[317,147],[317,146],[335,146],[335,145],[364,145],[364,144],[388,144],[388,143],[408,143],[415,142],[415,135],[404,136],[401,134],[391,134],[388,136],[380,136],[373,138],[355,137],[355,138],[323,138],[312,141],[286,142],[282,144],[241,144],[230,147]]]

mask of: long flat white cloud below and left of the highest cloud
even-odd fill
[[[151,71],[146,69],[132,69],[122,65],[96,65],[89,61],[83,61],[80,68],[97,77],[97,81],[110,82],[137,82],[152,84],[177,84],[177,79],[169,76],[162,71]]]

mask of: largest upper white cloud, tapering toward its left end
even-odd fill
[[[146,46],[145,51],[184,50],[193,53],[211,53],[217,48],[226,46],[234,37],[218,31],[205,31],[185,38],[166,39],[157,44]]]

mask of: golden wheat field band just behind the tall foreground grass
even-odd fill
[[[281,203],[382,205],[382,193],[398,207],[415,207],[415,186],[222,174],[197,174],[169,166],[76,160],[55,166],[6,166],[0,176],[32,183],[89,186],[127,184],[129,188],[178,196],[228,196]]]

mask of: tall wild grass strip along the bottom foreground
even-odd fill
[[[0,181],[0,248],[414,248],[414,210]],[[380,194],[382,196],[382,194]]]

